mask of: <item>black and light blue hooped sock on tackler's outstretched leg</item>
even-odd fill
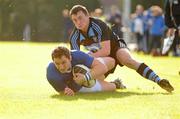
[[[156,83],[161,80],[160,77],[144,63],[140,64],[137,72],[144,78],[154,81]]]

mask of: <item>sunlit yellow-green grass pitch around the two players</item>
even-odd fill
[[[133,53],[172,83],[172,94],[131,69],[117,67],[107,80],[120,77],[126,90],[68,97],[56,93],[45,75],[51,51],[58,45],[0,42],[0,119],[180,118],[180,58]]]

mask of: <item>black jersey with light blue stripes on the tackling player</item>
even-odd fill
[[[71,49],[80,50],[80,45],[83,45],[89,51],[97,51],[101,49],[102,41],[111,39],[111,34],[112,31],[104,22],[90,17],[87,34],[74,28],[70,36]]]

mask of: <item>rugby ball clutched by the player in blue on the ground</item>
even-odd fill
[[[75,80],[77,84],[88,88],[93,87],[95,85],[96,80],[92,78],[90,74],[90,69],[87,66],[82,64],[75,65],[73,67],[73,76],[76,73],[81,73],[84,75],[83,80]]]

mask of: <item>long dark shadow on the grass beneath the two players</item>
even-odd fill
[[[160,92],[138,93],[138,92],[130,92],[130,91],[128,91],[128,92],[114,91],[114,92],[96,92],[96,93],[77,93],[75,96],[66,96],[63,94],[54,94],[54,95],[51,95],[51,98],[58,99],[58,100],[68,100],[68,101],[78,100],[78,99],[105,100],[108,98],[124,98],[124,97],[128,97],[128,96],[133,96],[133,95],[159,95],[159,94],[171,95],[170,93],[160,93]]]

